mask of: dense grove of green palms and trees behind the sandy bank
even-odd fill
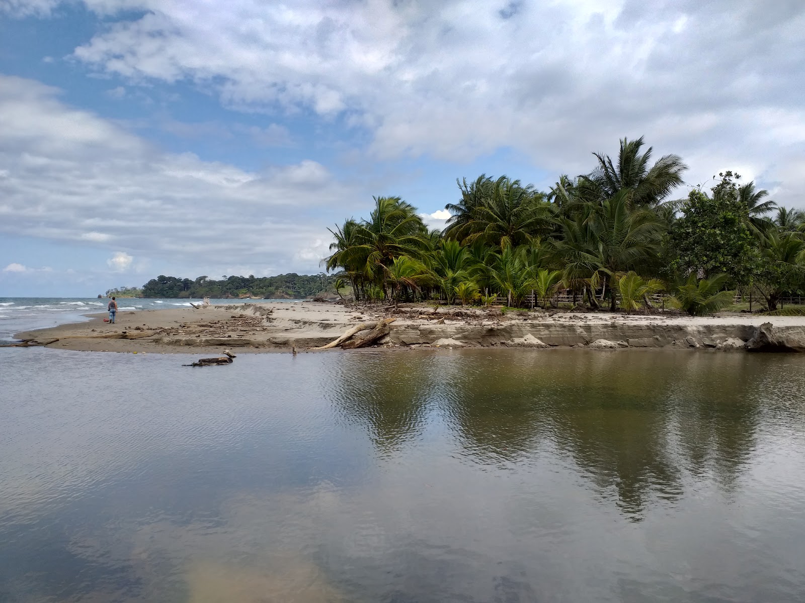
[[[735,291],[768,310],[805,292],[805,215],[778,207],[765,190],[724,171],[714,186],[684,185],[678,155],[652,162],[642,137],[616,157],[563,174],[549,191],[481,174],[457,180],[460,199],[443,231],[431,230],[399,197],[375,197],[366,219],[332,228],[336,289],[349,282],[366,300],[440,299],[522,306],[532,291],[593,309],[639,310],[668,293],[689,314],[732,303]]]

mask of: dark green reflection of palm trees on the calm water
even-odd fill
[[[516,468],[567,454],[633,519],[688,478],[733,487],[755,445],[766,364],[746,355],[462,351],[341,359],[333,400],[386,455],[444,413],[461,455]],[[627,360],[627,362],[624,362]],[[341,378],[338,375],[342,375]]]

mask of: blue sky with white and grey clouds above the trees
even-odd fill
[[[803,73],[802,0],[0,0],[0,296],[318,273],[623,137],[805,208]]]

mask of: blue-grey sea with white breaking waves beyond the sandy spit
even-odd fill
[[[190,306],[200,299],[138,299],[122,297],[118,309],[159,310]],[[285,299],[212,299],[213,304],[261,303],[265,301],[301,301]],[[42,329],[87,320],[85,314],[105,312],[109,300],[97,297],[0,297],[0,341],[13,339],[14,333]]]

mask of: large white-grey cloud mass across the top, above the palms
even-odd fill
[[[75,57],[132,82],[191,80],[238,109],[344,112],[381,158],[503,146],[575,174],[646,134],[696,182],[805,147],[799,0],[137,3],[146,14]]]

